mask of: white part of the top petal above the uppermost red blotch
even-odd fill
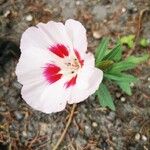
[[[63,44],[72,50],[72,43],[62,23],[49,21],[47,24],[39,23],[37,27],[52,44]]]

